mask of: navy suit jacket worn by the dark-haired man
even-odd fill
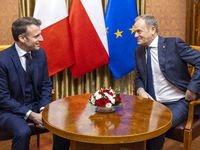
[[[44,50],[32,51],[34,65],[33,87],[38,108],[51,102],[52,83],[48,74]],[[29,108],[25,101],[25,77],[18,53],[13,44],[0,52],[0,128],[10,114],[24,117]]]

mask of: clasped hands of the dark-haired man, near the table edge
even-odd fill
[[[31,112],[28,119],[32,120],[36,124],[36,127],[40,128],[40,129],[45,129],[45,127],[43,126],[43,123],[42,123],[41,113]]]

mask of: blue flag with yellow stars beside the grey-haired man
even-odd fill
[[[108,66],[115,79],[135,69],[135,18],[138,16],[135,0],[109,0],[105,14],[110,62]]]

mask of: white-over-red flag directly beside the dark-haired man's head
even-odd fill
[[[34,18],[42,21],[41,29],[49,76],[74,64],[74,51],[65,0],[37,0]]]

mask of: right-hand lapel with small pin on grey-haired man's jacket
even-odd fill
[[[158,60],[160,69],[162,72],[165,71],[165,61],[166,61],[166,43],[165,39],[159,36],[158,39]]]

